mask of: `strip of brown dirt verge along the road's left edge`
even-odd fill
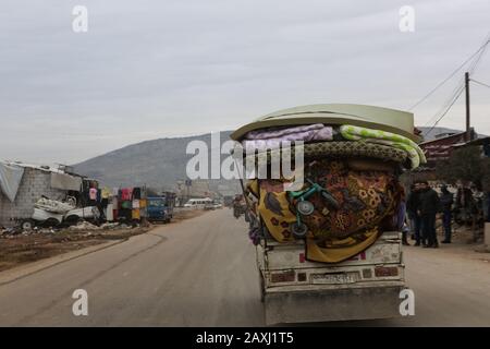
[[[203,215],[204,210],[181,210],[174,214],[169,226]],[[120,225],[107,229],[39,229],[29,233],[0,234],[0,272],[63,253],[95,246],[108,241],[127,240],[160,227]]]

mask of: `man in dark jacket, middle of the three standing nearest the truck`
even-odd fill
[[[425,248],[438,248],[438,239],[436,236],[436,214],[439,210],[439,195],[429,186],[427,181],[419,183],[420,192],[418,196],[419,206],[418,214],[421,217],[422,236],[427,239]]]

